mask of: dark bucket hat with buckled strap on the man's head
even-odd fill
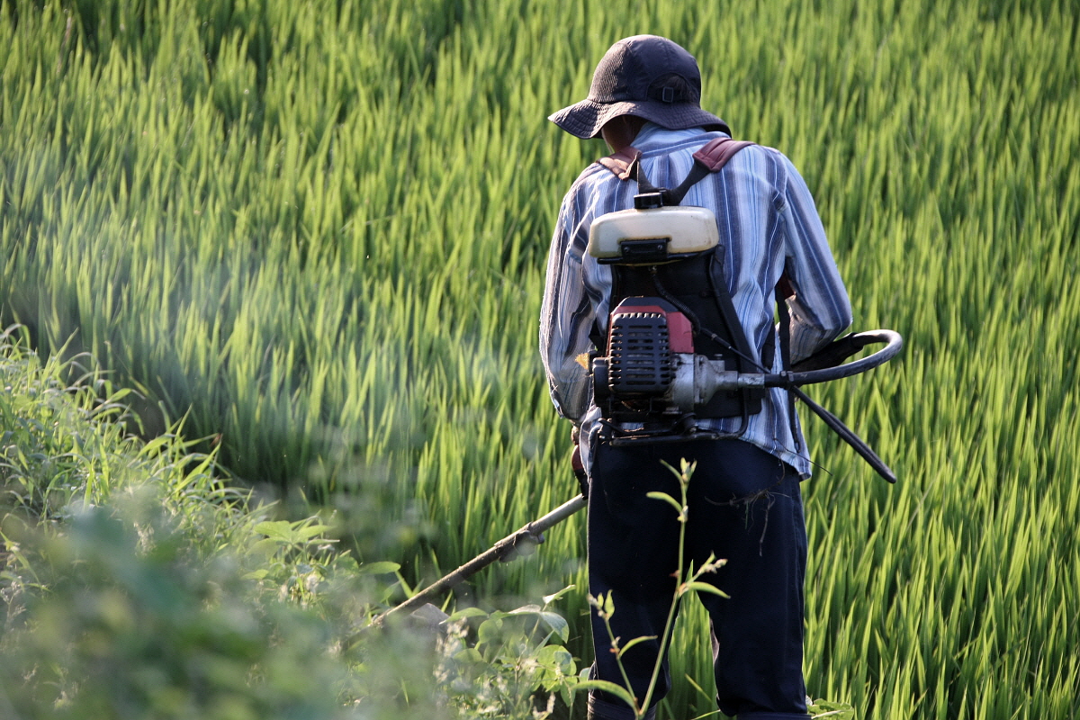
[[[619,116],[637,116],[669,130],[703,126],[731,134],[726,122],[701,109],[701,70],[678,43],[654,35],[623,38],[604,54],[589,97],[548,120],[582,139]]]

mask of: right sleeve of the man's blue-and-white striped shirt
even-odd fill
[[[851,325],[851,302],[836,269],[825,228],[806,181],[784,159],[785,270],[795,295],[791,314],[791,362],[797,363],[835,340]]]

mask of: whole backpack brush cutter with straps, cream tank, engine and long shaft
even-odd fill
[[[674,190],[653,188],[638,174],[637,151],[633,148],[622,158],[617,153],[600,161],[621,179],[636,177],[642,193],[634,198],[633,209],[602,215],[590,228],[589,254],[600,263],[613,266],[613,274],[621,279],[617,283],[621,289],[612,295],[621,300],[610,313],[606,342],[594,338],[597,348],[605,347],[605,354],[597,351],[591,355],[593,399],[609,426],[631,423],[640,427],[617,434],[612,443],[670,443],[719,437],[698,429],[696,419],[742,415],[745,421],[760,408],[765,389],[783,388],[789,397],[798,397],[824,420],[882,478],[895,483],[896,476],[874,450],[800,386],[848,378],[886,363],[903,345],[900,334],[893,330],[851,334],[783,372],[771,372],[770,358],[758,362],[750,352],[730,296],[726,289],[720,291],[715,279],[710,280],[712,256],[721,247],[716,217],[708,208],[681,207],[678,203],[693,182],[719,171],[731,155],[748,145],[752,144],[728,138],[706,145],[694,153],[691,175]],[[702,277],[708,281],[704,285],[700,285]],[[687,300],[705,296],[714,297],[715,303]],[[779,291],[777,300],[782,351],[786,355],[787,308]],[[703,317],[707,322],[702,322]],[[885,347],[845,363],[873,344]],[[794,410],[791,415],[794,422]],[[580,480],[583,470],[577,448],[573,459]],[[584,506],[582,493],[503,538],[377,616],[373,624],[381,625],[392,615],[420,608],[497,559],[510,560],[530,552],[544,541],[545,530]]]

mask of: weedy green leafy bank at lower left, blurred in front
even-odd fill
[[[551,609],[494,613],[476,638],[397,627],[346,647],[386,608],[396,563],[357,565],[332,518],[276,519],[175,435],[123,436],[103,410],[116,397],[3,340],[3,717],[534,718],[538,691],[572,703]]]

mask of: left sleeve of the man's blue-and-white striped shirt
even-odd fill
[[[555,409],[576,425],[590,406],[588,354],[595,311],[585,291],[582,257],[588,236],[580,232],[580,213],[571,190],[563,200],[548,257],[540,311],[540,356]]]

